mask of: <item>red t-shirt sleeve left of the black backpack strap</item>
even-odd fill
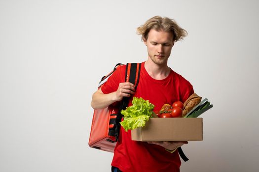
[[[119,83],[124,82],[126,65],[118,66],[107,82],[101,87],[103,93],[109,94],[118,89]]]

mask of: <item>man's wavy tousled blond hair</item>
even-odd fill
[[[167,17],[162,18],[161,16],[154,16],[140,27],[137,28],[137,34],[142,35],[142,40],[148,40],[148,32],[151,29],[155,29],[156,31],[164,30],[168,32],[172,32],[174,37],[173,40],[176,42],[180,39],[184,39],[187,36],[187,31],[182,29],[173,19],[169,19]]]

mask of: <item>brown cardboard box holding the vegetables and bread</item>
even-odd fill
[[[150,118],[131,131],[134,141],[202,141],[202,118]]]

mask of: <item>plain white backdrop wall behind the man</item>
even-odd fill
[[[88,146],[91,96],[116,63],[147,59],[136,28],[155,15],[188,31],[169,66],[214,105],[201,116],[203,141],[183,146],[190,160],[181,171],[259,171],[258,8],[257,0],[0,0],[0,172],[111,171],[112,154]]]

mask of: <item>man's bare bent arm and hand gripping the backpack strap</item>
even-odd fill
[[[135,86],[132,83],[120,83],[118,89],[114,92],[104,94],[102,89],[98,89],[92,96],[91,106],[93,109],[103,109],[123,97],[130,97],[135,93]]]

